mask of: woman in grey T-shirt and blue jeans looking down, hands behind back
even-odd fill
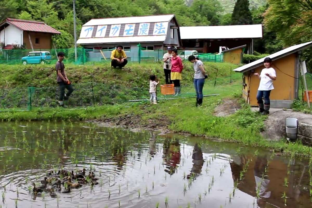
[[[196,107],[197,105],[202,105],[202,88],[204,87],[205,78],[205,69],[201,60],[195,56],[188,56],[188,60],[191,61],[194,65],[194,87],[196,91]]]

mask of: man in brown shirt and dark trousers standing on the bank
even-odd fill
[[[66,108],[64,105],[63,99],[68,100],[71,93],[74,91],[73,86],[71,85],[70,81],[67,79],[66,73],[65,73],[65,66],[62,62],[64,60],[64,53],[58,52],[57,53],[58,60],[55,65],[56,69],[56,81],[60,87],[60,97],[59,97],[59,105],[61,107]],[[68,92],[65,94],[65,88],[68,90]]]

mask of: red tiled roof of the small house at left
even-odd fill
[[[61,32],[57,31],[53,27],[48,26],[44,22],[37,22],[37,21],[30,21],[30,20],[19,20],[19,19],[12,19],[12,18],[7,18],[5,22],[12,24],[15,27],[17,27],[21,30],[24,30],[24,31],[61,34]]]

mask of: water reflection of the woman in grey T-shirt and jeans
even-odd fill
[[[204,165],[204,160],[202,157],[202,149],[198,147],[198,143],[196,143],[194,146],[192,158],[193,158],[192,160],[193,166],[192,166],[190,174],[187,176],[187,179],[189,179],[191,176],[193,177],[193,179],[195,179],[202,172],[202,166]]]

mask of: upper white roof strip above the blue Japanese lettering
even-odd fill
[[[128,24],[128,23],[148,23],[148,22],[169,22],[174,17],[174,14],[167,15],[153,15],[153,16],[139,16],[139,17],[113,17],[102,19],[91,19],[83,26],[93,25],[114,25],[114,24]]]

